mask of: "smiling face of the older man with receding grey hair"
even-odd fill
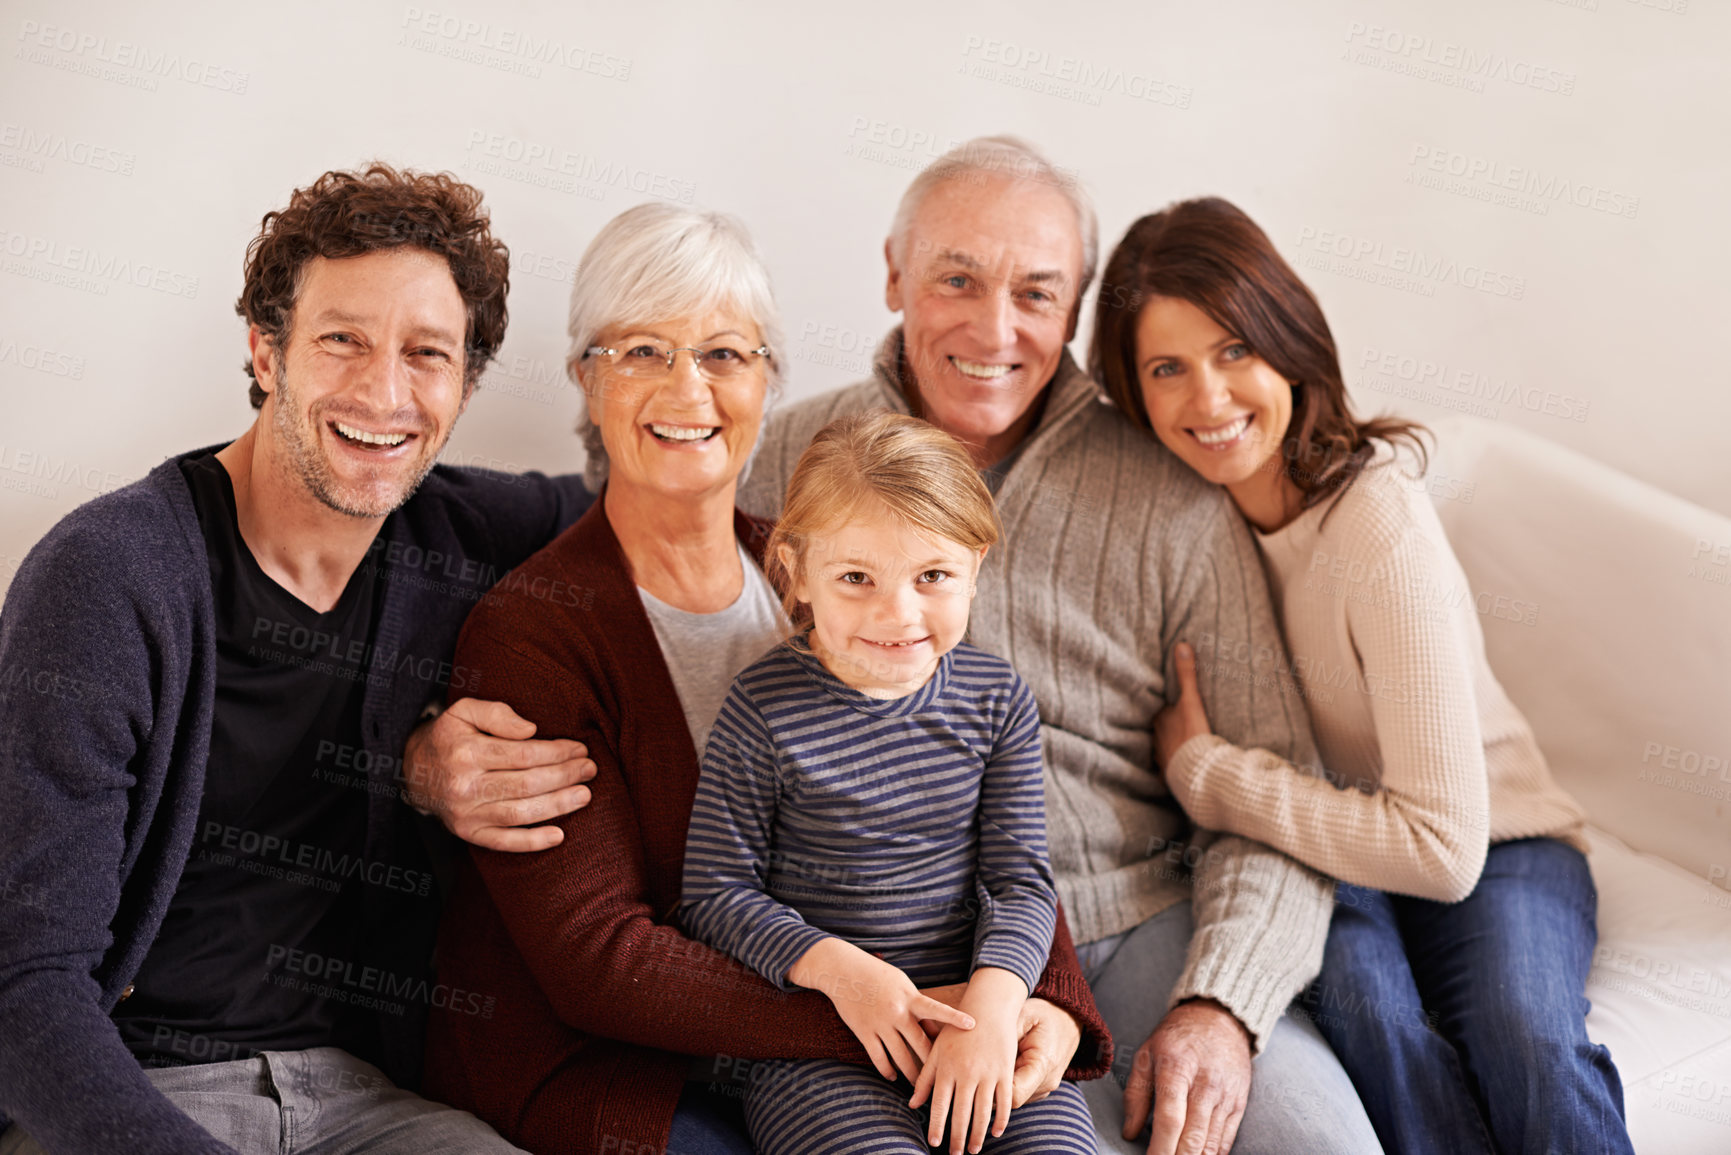
[[[1075,208],[1051,184],[966,173],[933,189],[885,255],[921,416],[976,464],[1001,461],[1075,334]]]

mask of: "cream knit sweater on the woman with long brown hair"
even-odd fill
[[[1471,894],[1489,843],[1587,849],[1580,807],[1485,660],[1478,603],[1496,603],[1468,585],[1404,462],[1383,450],[1342,495],[1257,540],[1291,651],[1258,674],[1310,708],[1326,776],[1193,738],[1167,767],[1191,817],[1438,902]],[[1219,658],[1198,648],[1200,663]]]

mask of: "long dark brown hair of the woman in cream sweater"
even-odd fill
[[[1136,324],[1156,296],[1189,301],[1293,381],[1281,473],[1303,509],[1352,485],[1376,442],[1404,442],[1428,462],[1430,431],[1397,417],[1352,416],[1335,334],[1310,289],[1243,210],[1220,197],[1168,204],[1142,216],[1113,251],[1094,305],[1089,372],[1113,403],[1153,429],[1137,379]]]

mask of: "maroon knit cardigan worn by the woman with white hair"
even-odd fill
[[[770,525],[736,513],[734,528],[762,559]],[[537,738],[585,743],[595,778],[552,850],[464,864],[440,930],[431,1098],[538,1155],[660,1152],[692,1055],[866,1060],[827,997],[777,990],[670,923],[698,753],[602,500],[476,606],[455,670]],[[1111,1041],[1061,911],[1035,994],[1082,1025],[1068,1074],[1104,1074]]]

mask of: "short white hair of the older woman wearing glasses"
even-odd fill
[[[727,213],[661,201],[628,208],[601,227],[578,261],[566,320],[571,336],[566,374],[582,386],[576,367],[604,329],[692,317],[715,308],[750,317],[769,346],[769,393],[763,400],[769,410],[781,395],[784,343],[769,270],[751,234]],[[592,403],[585,391],[576,433],[583,438],[583,483],[594,494],[608,480],[608,447],[601,442]]]

